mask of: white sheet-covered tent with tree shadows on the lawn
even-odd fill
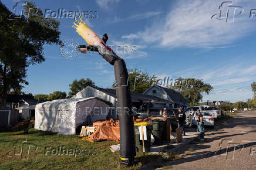
[[[69,98],[36,104],[35,128],[58,134],[76,134],[82,124],[105,120],[110,103],[97,97]]]

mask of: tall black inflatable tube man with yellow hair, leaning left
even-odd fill
[[[135,139],[132,114],[132,98],[130,94],[130,85],[126,64],[123,59],[118,57],[110,47],[106,45],[108,36],[100,37],[90,29],[85,22],[79,18],[74,22],[73,28],[86,40],[89,46],[79,46],[82,53],[87,50],[99,52],[99,54],[114,66],[114,75],[116,79],[116,96],[119,121],[120,121],[120,163],[132,165],[134,162]]]

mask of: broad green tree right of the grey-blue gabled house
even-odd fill
[[[213,89],[210,84],[204,83],[202,80],[194,78],[183,79],[182,77],[179,77],[169,88],[180,92],[191,104],[201,101],[203,98],[202,93],[209,94]]]

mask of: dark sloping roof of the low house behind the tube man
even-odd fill
[[[102,91],[103,93],[108,94],[109,96],[116,98],[116,90],[114,90],[114,89],[103,89],[100,87],[92,87],[92,88],[95,88],[99,91]],[[168,101],[168,100],[164,100],[162,98],[143,94],[143,93],[137,93],[134,91],[131,91],[131,96],[132,96],[132,102],[143,101],[144,103],[151,103],[151,101],[154,100],[155,103],[170,103],[170,101]]]

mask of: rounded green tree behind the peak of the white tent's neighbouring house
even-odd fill
[[[78,80],[73,80],[73,82],[71,84],[69,84],[70,87],[70,92],[69,92],[69,97],[72,97],[73,95],[75,95],[76,93],[78,93],[79,91],[85,89],[86,86],[92,86],[92,87],[96,87],[95,83],[90,80],[89,78],[85,79],[80,79]]]

